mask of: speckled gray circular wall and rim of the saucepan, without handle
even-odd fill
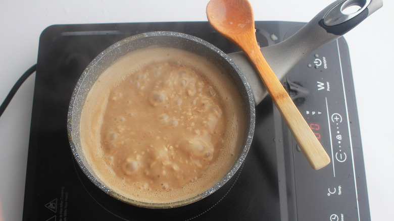
[[[80,144],[80,137],[79,137],[80,136],[79,123],[80,123],[80,117],[81,117],[84,101],[89,93],[90,88],[93,86],[97,78],[112,63],[114,63],[117,59],[121,58],[125,54],[151,45],[174,47],[174,48],[191,51],[222,66],[226,71],[226,73],[233,80],[234,85],[237,87],[237,90],[239,91],[241,97],[243,98],[245,113],[248,115],[246,116],[246,121],[245,121],[246,130],[242,132],[244,133],[244,140],[242,143],[241,151],[234,165],[232,166],[231,170],[227,173],[227,175],[219,183],[217,183],[215,186],[213,186],[206,192],[201,193],[198,196],[195,196],[191,199],[187,199],[184,201],[171,203],[171,204],[159,205],[159,204],[137,202],[135,200],[125,198],[115,193],[114,191],[110,190],[102,183],[101,180],[97,178],[96,174],[94,174],[94,172],[89,167],[89,164],[83,155],[82,147]],[[230,58],[220,49],[218,49],[217,47],[213,46],[212,44],[200,38],[196,38],[182,33],[150,32],[150,33],[134,35],[113,44],[105,51],[100,53],[88,65],[88,67],[85,69],[85,71],[82,73],[81,77],[79,78],[77,85],[74,89],[73,95],[71,97],[67,121],[68,121],[67,129],[68,129],[69,142],[74,157],[79,167],[85,173],[85,175],[97,187],[102,189],[107,194],[130,204],[134,204],[142,207],[148,207],[148,208],[168,208],[168,207],[185,205],[210,195],[211,193],[215,192],[218,188],[220,188],[223,184],[225,184],[237,171],[237,169],[242,164],[246,154],[248,153],[249,147],[252,142],[254,125],[255,125],[255,102],[253,99],[252,91],[245,77],[240,73],[239,69],[230,60]]]

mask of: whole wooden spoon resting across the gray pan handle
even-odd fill
[[[318,170],[330,163],[330,157],[260,51],[251,4],[247,0],[211,0],[207,17],[216,30],[238,45],[251,60],[311,167]]]

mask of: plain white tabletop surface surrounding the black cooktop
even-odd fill
[[[251,1],[258,21],[308,22],[331,0]],[[38,39],[53,24],[207,21],[208,0],[1,0],[0,101],[37,61]],[[394,217],[394,3],[345,34],[351,53],[372,220]],[[391,12],[391,13],[390,13]],[[0,199],[4,220],[21,220],[34,76],[0,118]],[[0,218],[1,220],[1,218]]]

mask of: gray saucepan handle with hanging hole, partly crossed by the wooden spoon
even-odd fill
[[[343,9],[350,6],[358,6],[361,9],[352,14],[342,13]],[[315,49],[347,33],[382,6],[382,0],[335,1],[297,33],[280,43],[261,48],[261,52],[271,69],[281,80],[288,71]],[[242,52],[230,53],[228,56],[248,79],[255,103],[259,104],[268,95],[268,92],[254,67]]]

